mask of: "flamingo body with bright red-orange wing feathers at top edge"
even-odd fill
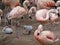
[[[54,0],[28,0],[33,5],[37,6],[37,9],[50,9],[52,6],[55,6]]]

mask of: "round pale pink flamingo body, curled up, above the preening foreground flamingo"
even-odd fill
[[[41,9],[36,12],[36,20],[42,24],[48,23],[49,15],[47,9]]]

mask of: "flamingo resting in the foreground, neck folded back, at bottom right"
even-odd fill
[[[59,41],[58,37],[52,31],[43,31],[43,25],[39,25],[38,29],[34,32],[35,39],[41,45],[54,45]]]

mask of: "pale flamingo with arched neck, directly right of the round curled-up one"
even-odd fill
[[[58,20],[58,10],[57,9],[50,9],[48,12],[50,22],[55,23]]]

